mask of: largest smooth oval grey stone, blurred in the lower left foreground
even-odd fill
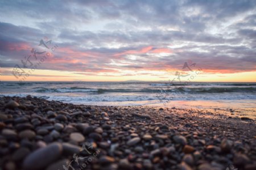
[[[37,170],[46,168],[60,158],[62,150],[60,143],[52,143],[47,147],[39,148],[26,157],[23,162],[23,169]]]

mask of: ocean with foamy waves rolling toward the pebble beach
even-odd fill
[[[256,83],[1,82],[0,95],[88,105],[255,109]]]

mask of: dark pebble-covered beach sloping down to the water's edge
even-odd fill
[[[250,119],[205,109],[75,105],[31,96],[0,101],[2,169],[63,169],[67,162],[76,169],[256,168],[256,124]],[[85,142],[97,156],[82,149]],[[91,161],[76,162],[73,154]]]

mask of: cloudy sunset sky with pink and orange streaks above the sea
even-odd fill
[[[1,81],[256,82],[256,1],[0,1]]]

